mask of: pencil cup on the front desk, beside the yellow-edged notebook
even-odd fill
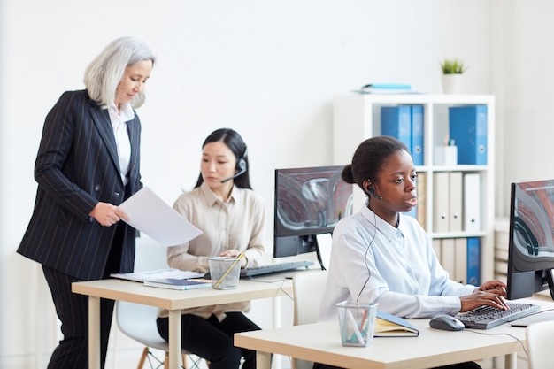
[[[378,305],[350,301],[336,304],[342,346],[369,346],[371,344]]]

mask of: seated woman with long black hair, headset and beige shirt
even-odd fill
[[[265,209],[250,186],[248,151],[233,129],[212,132],[202,145],[196,187],[173,204],[203,234],[167,251],[171,267],[209,272],[208,259],[236,258],[242,267],[261,264],[264,257]],[[243,312],[250,302],[219,304],[182,311],[182,348],[210,362],[211,369],[256,367],[256,352],[233,344],[233,334],[260,329]],[[167,311],[160,311],[158,331],[168,340]]]

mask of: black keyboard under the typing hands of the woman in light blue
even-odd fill
[[[489,329],[500,324],[517,320],[538,311],[539,305],[523,303],[507,303],[510,310],[500,310],[483,305],[472,311],[460,312],[456,319],[461,320],[466,328]]]

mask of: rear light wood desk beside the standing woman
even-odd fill
[[[115,279],[73,283],[73,293],[88,296],[88,367],[100,368],[100,298],[167,309],[169,367],[177,369],[181,360],[181,309],[285,296],[285,292],[292,295],[292,281],[280,280],[278,274],[256,279],[262,281],[240,280],[237,289],[200,288],[186,291],[145,287],[140,282]]]

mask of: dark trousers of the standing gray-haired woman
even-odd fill
[[[62,322],[64,338],[50,357],[48,369],[88,368],[88,296],[71,292],[71,284],[79,281],[64,273],[42,266],[50,287],[56,313]],[[108,336],[112,326],[113,300],[100,301],[100,362],[104,368]]]

